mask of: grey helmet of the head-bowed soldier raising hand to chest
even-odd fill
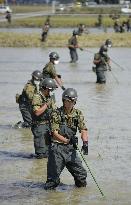
[[[55,90],[56,88],[58,88],[55,80],[53,80],[52,78],[45,78],[44,80],[42,80],[40,87],[43,89],[48,88],[49,90]]]

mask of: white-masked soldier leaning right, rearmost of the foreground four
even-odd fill
[[[51,52],[49,54],[50,61],[43,68],[43,78],[55,79],[57,84],[65,90],[63,83],[61,81],[61,76],[56,73],[55,65],[59,63],[59,55],[56,52]]]

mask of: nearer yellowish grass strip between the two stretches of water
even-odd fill
[[[70,38],[69,34],[49,34],[47,42],[40,41],[38,34],[0,33],[1,47],[65,47]],[[114,47],[131,47],[130,33],[88,34],[78,37],[82,47],[99,47],[110,38]]]

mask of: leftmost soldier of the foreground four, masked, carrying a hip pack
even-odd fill
[[[19,121],[15,127],[17,128],[30,128],[32,123],[31,117],[31,103],[34,93],[39,91],[39,83],[42,79],[42,73],[35,70],[32,73],[32,79],[25,85],[22,94],[16,94],[16,102],[19,104],[19,109],[22,114],[24,122]]]

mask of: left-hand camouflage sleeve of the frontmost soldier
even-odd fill
[[[51,114],[51,131],[60,130],[60,115],[57,110],[54,110]]]

